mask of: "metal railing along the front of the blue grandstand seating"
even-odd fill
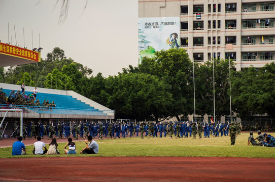
[[[77,109],[77,108],[54,108],[42,106],[20,106],[20,105],[0,105],[1,109],[22,109],[23,113],[39,113],[39,114],[77,114],[77,115],[107,115],[114,113],[113,110],[97,110],[97,109]]]

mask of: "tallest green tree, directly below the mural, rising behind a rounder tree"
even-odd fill
[[[157,76],[169,85],[168,92],[173,96],[170,116],[193,113],[192,63],[184,49],[169,49],[155,53],[155,57],[144,57],[136,68],[129,67],[123,72],[140,72]]]

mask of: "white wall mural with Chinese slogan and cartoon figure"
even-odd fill
[[[155,51],[179,49],[180,17],[139,18],[139,64]]]

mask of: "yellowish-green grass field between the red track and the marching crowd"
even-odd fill
[[[275,133],[268,134],[274,135]],[[248,146],[249,133],[237,136],[234,146],[230,145],[230,136],[213,138],[125,138],[113,140],[98,140],[98,154],[92,156],[121,157],[121,156],[159,156],[159,157],[264,157],[275,158],[275,148],[262,146]],[[256,138],[257,133],[254,133]],[[74,141],[75,142],[75,141]],[[33,155],[33,146],[26,146],[27,155],[12,156],[12,148],[0,148],[0,158],[10,157],[67,157],[63,148],[65,143],[60,143],[59,155]],[[48,148],[49,145],[46,145]],[[70,157],[91,156],[79,154],[85,147],[85,142],[76,142],[77,155]]]

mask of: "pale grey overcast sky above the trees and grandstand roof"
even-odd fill
[[[86,0],[71,0],[63,23],[58,23],[61,1],[56,2],[0,0],[0,40],[30,50],[41,47],[43,59],[58,47],[93,75],[108,77],[137,66],[137,0],[88,0],[85,10]]]

